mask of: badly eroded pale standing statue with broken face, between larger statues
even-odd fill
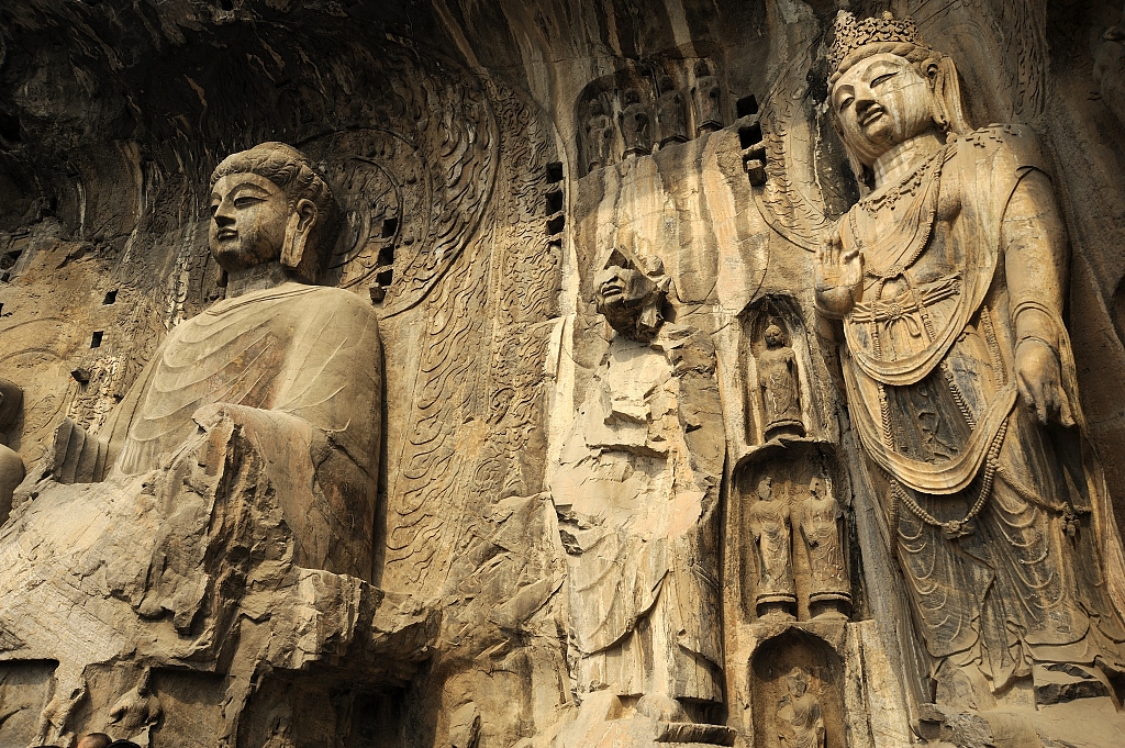
[[[606,265],[593,298],[612,340],[550,479],[578,690],[584,705],[608,697],[657,721],[705,720],[722,700],[714,348],[665,319],[659,259],[623,246]]]

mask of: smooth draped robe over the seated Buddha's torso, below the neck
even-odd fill
[[[169,333],[106,424],[110,477],[171,459],[204,406],[238,406],[235,421],[253,431],[280,494],[295,561],[370,578],[381,395],[369,304],[299,283],[251,291]]]

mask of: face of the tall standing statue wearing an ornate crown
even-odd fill
[[[853,65],[831,91],[840,135],[867,166],[934,127],[933,99],[933,82],[915,64],[885,53]]]

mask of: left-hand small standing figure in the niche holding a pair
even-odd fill
[[[754,593],[758,618],[792,620],[796,587],[793,584],[790,511],[784,499],[774,498],[770,476],[758,481],[758,501],[747,514],[758,556]]]

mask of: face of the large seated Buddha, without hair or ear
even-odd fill
[[[281,258],[289,199],[258,174],[227,174],[212,190],[210,250],[227,272]]]

